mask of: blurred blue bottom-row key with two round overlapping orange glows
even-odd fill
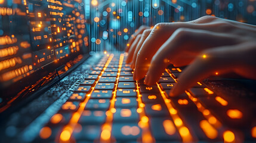
[[[113,123],[112,133],[116,142],[137,142],[141,138],[141,128],[137,122]]]

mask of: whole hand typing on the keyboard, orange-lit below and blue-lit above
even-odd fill
[[[170,92],[183,93],[206,77],[235,72],[256,79],[256,26],[205,16],[143,26],[129,40],[127,63],[134,79],[153,85],[169,64],[187,66]]]

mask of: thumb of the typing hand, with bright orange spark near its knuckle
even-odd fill
[[[242,55],[241,45],[224,46],[220,48],[209,49],[187,67],[178,78],[177,85],[170,92],[170,96],[174,97],[182,94],[187,88],[195,85],[196,82],[205,79],[208,76],[216,74],[224,74],[234,71],[240,67]]]

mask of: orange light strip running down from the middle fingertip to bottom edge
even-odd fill
[[[142,142],[155,142],[150,129],[149,129],[149,117],[146,116],[144,107],[145,105],[141,101],[141,94],[139,91],[138,81],[136,80],[136,91],[137,91],[137,101],[138,101],[138,108],[137,113],[140,115],[140,122],[138,122],[138,126],[142,129]]]

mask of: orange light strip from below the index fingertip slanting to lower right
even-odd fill
[[[174,120],[174,125],[177,127],[178,132],[180,133],[180,136],[181,136],[183,142],[193,142],[194,139],[193,139],[189,129],[184,125],[180,116],[178,116],[178,111],[175,110],[175,108],[171,104],[171,100],[166,98],[166,95],[165,95],[166,92],[162,91],[159,83],[156,83],[156,84],[158,85],[158,89],[161,92],[162,98],[165,101],[165,105],[168,108],[168,111],[171,114],[172,119]]]

